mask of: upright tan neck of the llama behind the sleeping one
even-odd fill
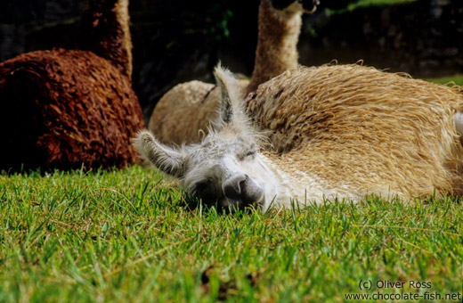
[[[270,0],[259,6],[259,33],[256,61],[246,93],[280,75],[297,68],[297,39],[302,25],[302,12],[281,12],[272,7]]]

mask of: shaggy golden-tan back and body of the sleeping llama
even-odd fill
[[[463,192],[460,90],[359,65],[321,66],[273,78],[247,107],[270,130],[275,163],[292,175],[318,178],[327,191],[410,198]]]

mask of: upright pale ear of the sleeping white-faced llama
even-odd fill
[[[231,71],[223,69],[220,63],[215,67],[214,76],[221,94],[220,122],[229,124],[233,116],[237,114],[233,102],[240,99],[238,81],[233,77]]]

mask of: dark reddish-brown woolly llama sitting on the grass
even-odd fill
[[[130,138],[145,126],[128,18],[128,0],[90,0],[82,50],[0,63],[0,169],[121,168],[137,159]]]

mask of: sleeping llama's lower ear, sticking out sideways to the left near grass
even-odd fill
[[[183,176],[183,157],[180,152],[158,143],[150,131],[142,130],[138,133],[134,138],[134,146],[142,159],[149,161],[167,175]]]

